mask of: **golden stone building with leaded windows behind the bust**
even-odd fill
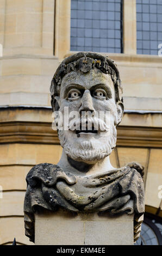
[[[0,1],[1,244],[14,237],[33,244],[24,235],[25,178],[35,164],[61,156],[49,86],[61,60],[77,51],[101,52],[118,64],[125,110],[110,159],[114,167],[145,167],[142,241],[162,244],[161,43],[161,0]]]

